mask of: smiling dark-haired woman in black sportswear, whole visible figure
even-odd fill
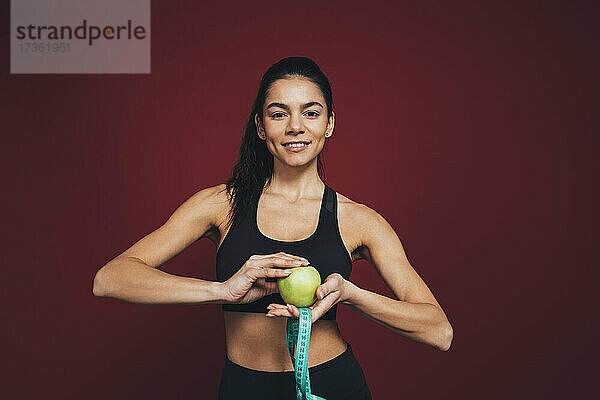
[[[219,303],[227,355],[220,399],[295,399],[285,337],[286,305],[276,278],[313,265],[322,276],[308,366],[312,393],[327,400],[370,399],[363,370],[335,320],[343,303],[393,331],[448,350],[452,327],[409,264],[393,228],[377,212],[336,193],[323,176],[321,150],[335,116],[327,77],[314,61],[288,57],[263,75],[226,184],[186,200],[156,231],[111,260],[94,293],[137,303]],[[217,248],[217,282],[158,269],[199,238]],[[367,260],[399,300],[349,281]],[[283,317],[283,318],[282,318]]]

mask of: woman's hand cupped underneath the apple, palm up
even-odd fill
[[[327,311],[337,303],[344,302],[350,298],[350,290],[352,283],[344,279],[337,272],[329,275],[325,282],[317,288],[317,301],[309,307],[311,319],[314,323],[321,318]],[[300,318],[300,310],[298,307],[288,304],[271,303],[267,307],[269,312],[267,317],[288,317]]]

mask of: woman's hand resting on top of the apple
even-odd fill
[[[291,271],[283,268],[308,264],[305,258],[284,252],[252,255],[239,271],[224,282],[226,298],[230,303],[245,304],[277,293],[277,282],[267,282],[266,278],[285,278]]]

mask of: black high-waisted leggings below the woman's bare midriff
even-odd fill
[[[326,400],[371,400],[371,391],[350,343],[339,356],[308,369],[311,392]],[[270,372],[242,367],[227,356],[219,400],[296,400],[294,371]]]

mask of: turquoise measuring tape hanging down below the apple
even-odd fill
[[[310,328],[312,318],[310,308],[298,307],[300,318],[288,318],[285,329],[285,337],[288,350],[294,364],[296,376],[296,398],[297,400],[325,400],[310,392],[310,376],[308,373],[308,346],[310,344]],[[300,326],[298,326],[300,325]],[[294,346],[296,347],[296,358],[294,359]]]

